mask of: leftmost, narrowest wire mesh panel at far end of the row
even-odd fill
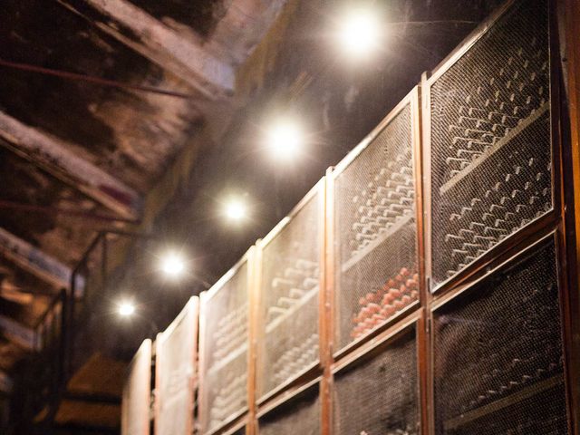
[[[121,402],[121,435],[149,435],[151,341],[145,340],[128,369]]]

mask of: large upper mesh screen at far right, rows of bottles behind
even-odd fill
[[[552,208],[546,3],[517,2],[430,89],[434,284]]]

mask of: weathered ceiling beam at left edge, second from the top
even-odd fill
[[[3,111],[0,111],[0,138],[3,139],[0,145],[121,216],[139,215],[140,196],[135,190],[75,155],[63,140],[25,125]]]

